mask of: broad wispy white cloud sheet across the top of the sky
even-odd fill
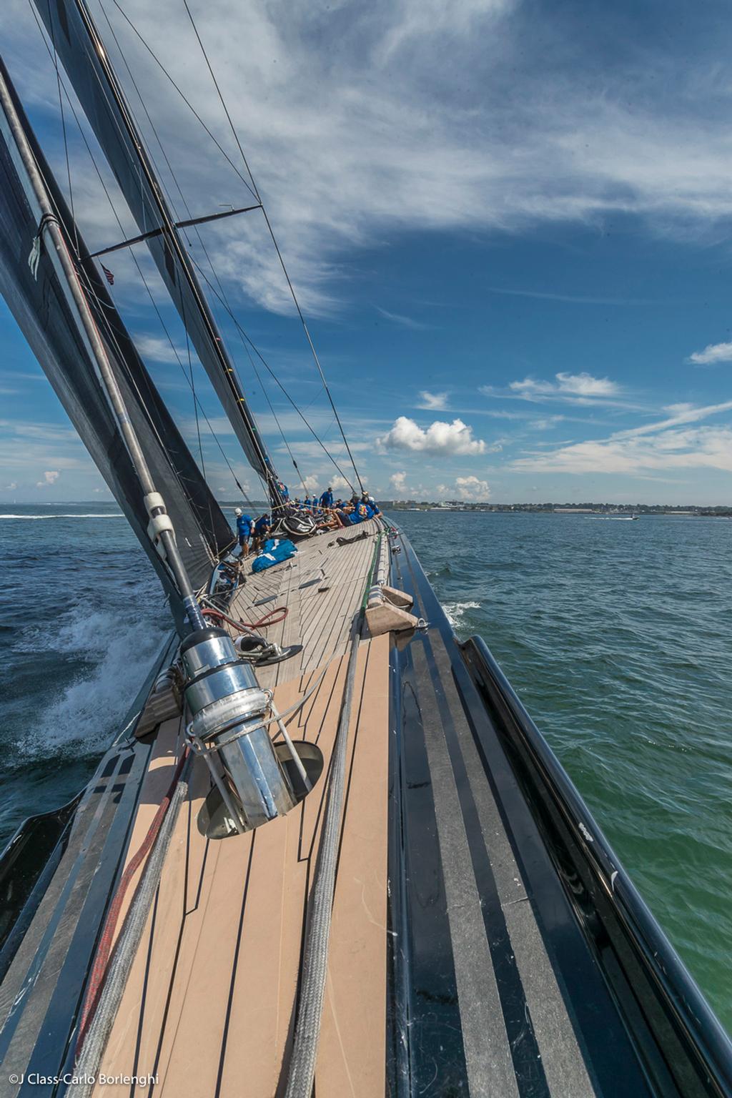
[[[124,7],[240,168],[179,0]],[[103,12],[114,25],[189,204],[210,212],[246,198],[120,12],[100,0],[91,8],[137,110]],[[339,309],[349,294],[344,256],[395,234],[521,232],[620,212],[688,237],[732,215],[732,87],[713,72],[714,56],[724,71],[729,27],[719,16],[718,55],[709,35],[696,42],[680,32],[663,52],[650,40],[630,49],[618,45],[624,35],[612,35],[612,20],[624,16],[606,16],[601,27],[577,23],[568,11],[538,12],[520,0],[344,0],[335,9],[325,0],[252,0],[246,18],[232,0],[210,3],[201,31],[306,310]],[[0,22],[24,99],[53,114],[55,77],[25,0],[7,0]],[[598,63],[608,40],[617,55]],[[469,82],[455,77],[464,72]],[[60,169],[60,143],[50,153]],[[72,153],[82,226],[91,215],[102,243],[116,239],[103,197],[94,198],[91,173]],[[292,310],[258,214],[205,232],[228,282],[266,309]]]

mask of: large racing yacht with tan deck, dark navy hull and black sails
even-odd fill
[[[0,1094],[732,1096],[729,1039],[407,538],[288,502],[86,0],[35,3],[296,551],[232,557],[0,67],[0,290],[172,630],[87,787],[0,860]]]

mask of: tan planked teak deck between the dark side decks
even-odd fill
[[[364,540],[339,547],[335,534],[322,535],[302,546],[292,561],[250,575],[230,612],[256,620],[277,606],[289,609],[267,635],[302,643],[303,651],[259,674],[261,684],[274,690],[280,712],[327,668],[316,693],[289,725],[293,739],[318,744],[326,769],[351,626],[374,560],[378,527],[370,526]],[[351,537],[360,528],[342,533]],[[252,605],[272,594],[272,602]],[[361,640],[356,682],[316,1072],[318,1095],[334,1098],[384,1094],[387,637]],[[169,721],[156,739],[128,856],[170,784],[179,751],[180,722]],[[224,841],[206,840],[196,827],[209,788],[207,769],[196,759],[190,798],[177,822],[100,1074],[156,1075],[155,1093],[160,1095],[274,1095],[292,1038],[325,771],[285,818]],[[112,1098],[115,1089],[98,1086],[94,1094]],[[120,1094],[148,1089],[126,1087]]]

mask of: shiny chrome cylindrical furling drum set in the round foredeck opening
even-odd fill
[[[189,735],[204,748],[212,773],[240,831],[249,831],[296,803],[272,741],[262,727],[271,695],[239,659],[224,629],[196,629],[182,642],[185,702],[192,715]],[[221,761],[224,775],[213,766]],[[230,788],[236,797],[230,795]]]

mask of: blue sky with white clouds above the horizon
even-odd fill
[[[183,0],[89,5],[177,216],[249,204]],[[189,5],[374,494],[730,502],[727,4]],[[4,0],[0,34],[68,193],[56,72],[27,0]],[[72,93],[63,103],[74,205],[95,250],[137,228]],[[352,468],[261,214],[201,239],[194,260],[289,394],[255,358],[257,376],[210,293],[280,475],[304,494],[293,455],[308,491],[342,492]],[[111,292],[160,392],[214,492],[237,496],[223,451],[261,497],[193,357],[199,442],[184,332],[138,245],[166,334],[131,251],[105,260]],[[109,498],[1,302],[0,347],[0,504]]]

